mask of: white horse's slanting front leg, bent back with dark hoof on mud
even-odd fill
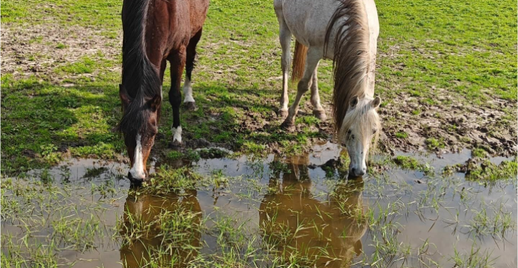
[[[292,106],[290,106],[290,110],[288,110],[288,116],[286,120],[282,122],[281,128],[286,128],[288,130],[294,129],[295,116],[297,116],[297,112],[299,111],[300,99],[302,98],[304,92],[308,91],[313,73],[315,72],[316,66],[319,65],[321,58],[321,48],[309,48],[307,50],[307,60],[306,68],[304,69],[304,75],[297,85],[297,96],[295,97],[295,101],[293,102]]]

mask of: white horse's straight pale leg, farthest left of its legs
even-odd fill
[[[288,72],[290,71],[290,43],[292,41],[292,33],[285,23],[282,9],[275,10],[277,20],[279,21],[279,41],[282,48],[282,56],[280,65],[282,68],[282,95],[280,96],[279,115],[286,118],[288,115]]]

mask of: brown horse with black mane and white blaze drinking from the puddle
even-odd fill
[[[131,160],[131,182],[143,182],[147,177],[145,163],[158,133],[166,60],[171,65],[173,143],[182,143],[180,80],[185,67],[184,102],[187,108],[194,108],[191,73],[208,8],[209,0],[123,1],[119,85],[123,117],[119,130]]]

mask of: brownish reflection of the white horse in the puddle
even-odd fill
[[[260,205],[260,226],[278,265],[297,261],[307,267],[351,267],[362,252],[367,230],[363,217],[363,180],[339,182],[326,201],[311,193],[308,157],[289,161],[290,172],[274,174],[270,194]],[[275,192],[275,193],[274,193]]]

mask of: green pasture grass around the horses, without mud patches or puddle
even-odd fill
[[[377,4],[382,28],[379,54],[397,55],[378,59],[376,94],[385,101],[383,107],[395,104],[396,92],[408,92],[417,99],[440,104],[443,101],[434,97],[432,86],[446,89],[452,98],[469,100],[479,106],[490,106],[487,100],[495,98],[516,101],[514,4],[507,1]],[[61,27],[95,30],[93,34],[99,35],[95,37],[99,42],[120,50],[118,43],[109,41],[121,36],[120,1],[6,0],[2,8],[3,28],[16,30],[27,27],[28,23],[45,26],[50,23],[46,18],[52,18],[50,21]],[[457,16],[450,16],[451,13]],[[294,154],[307,149],[312,144],[309,140],[327,138],[315,128],[319,121],[313,116],[297,118],[297,133],[278,129],[280,122],[275,111],[281,82],[275,78],[280,76],[277,28],[271,1],[211,1],[193,74],[194,98],[199,110],[182,111],[184,140],[204,138],[238,152],[252,153],[275,146],[280,152]],[[45,44],[43,37],[33,36],[31,42]],[[48,46],[69,49],[62,42]],[[31,53],[22,57],[39,60],[53,55]],[[401,65],[404,68],[398,67]],[[75,62],[58,62],[50,73],[33,77],[3,73],[4,172],[23,172],[30,167],[55,164],[62,150],[45,158],[42,145],[68,148],[76,157],[117,159],[124,155],[122,138],[110,131],[120,118],[119,66],[120,55],[106,57],[95,52],[82,55]],[[328,105],[330,62],[322,62],[319,71],[322,99]],[[56,81],[73,86],[64,87]],[[169,83],[167,72],[165,94]],[[291,90],[291,99],[293,96]],[[307,98],[304,96],[303,101]],[[421,108],[412,113],[421,113]],[[165,104],[160,124],[165,139],[157,141],[153,151],[157,155],[170,141],[171,123],[170,106]],[[396,137],[406,139],[405,133],[397,133]],[[443,146],[441,137],[433,137],[427,144],[431,150]]]

